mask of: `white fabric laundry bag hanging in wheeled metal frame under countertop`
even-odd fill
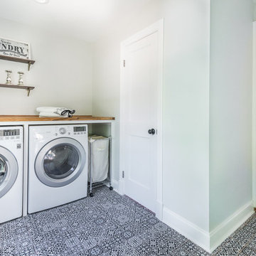
[[[92,183],[104,181],[109,169],[109,139],[102,136],[92,135],[88,138],[89,143],[89,166],[92,174]]]

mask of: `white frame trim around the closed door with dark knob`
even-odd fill
[[[135,33],[133,36],[121,42],[121,59],[120,59],[120,141],[119,141],[119,193],[124,194],[124,49],[130,44],[139,41],[146,36],[158,32],[159,43],[159,80],[157,84],[157,170],[156,170],[156,217],[159,220],[163,218],[163,73],[164,73],[164,18],[161,18],[151,26],[144,28],[142,31]]]

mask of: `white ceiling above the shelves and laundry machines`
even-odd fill
[[[0,0],[0,17],[92,42],[149,1]]]

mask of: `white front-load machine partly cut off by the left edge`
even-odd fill
[[[23,127],[0,127],[0,223],[22,215]]]

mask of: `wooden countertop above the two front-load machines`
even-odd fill
[[[39,117],[38,115],[0,115],[0,122],[35,122],[35,121],[83,121],[114,120],[114,117],[93,117],[91,115],[74,115],[73,117]]]

